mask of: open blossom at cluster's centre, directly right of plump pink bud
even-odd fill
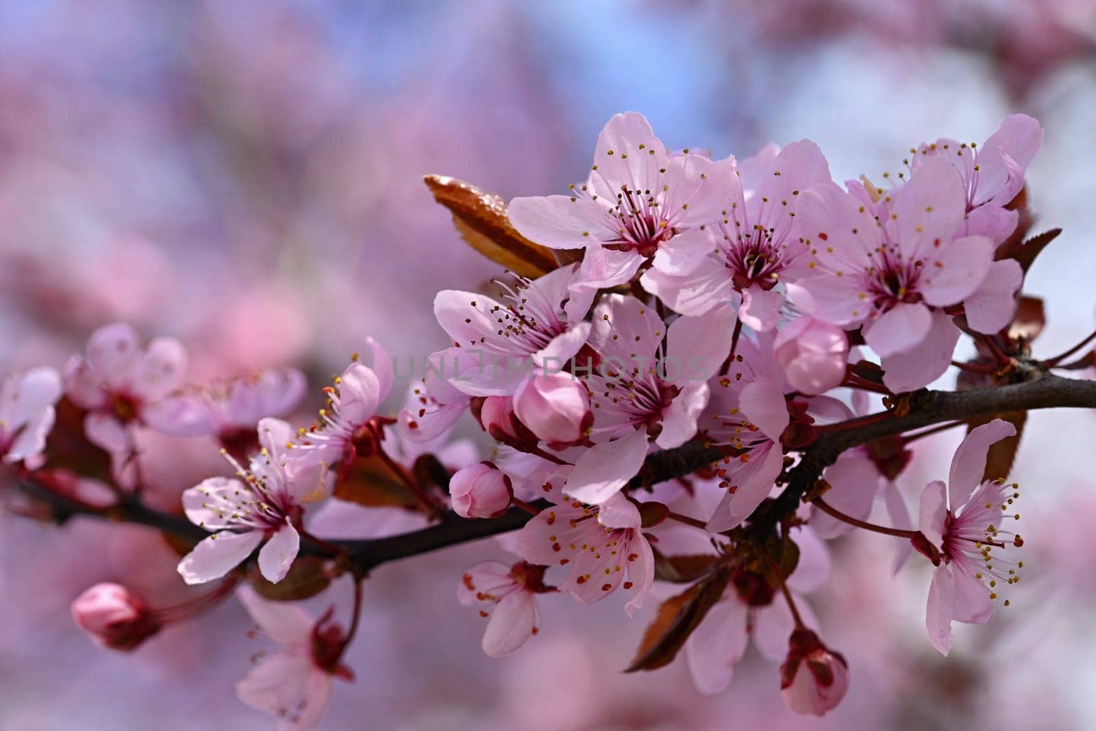
[[[635,297],[609,295],[594,308],[590,344],[601,364],[587,384],[596,445],[575,461],[567,494],[601,503],[638,471],[649,436],[669,449],[696,434],[707,381],[730,353],[733,327],[729,307],[669,328]]]

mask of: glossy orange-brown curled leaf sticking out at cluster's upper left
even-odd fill
[[[559,266],[551,249],[529,241],[506,217],[501,197],[445,175],[426,175],[434,199],[449,209],[460,237],[476,251],[522,276],[538,277]]]

